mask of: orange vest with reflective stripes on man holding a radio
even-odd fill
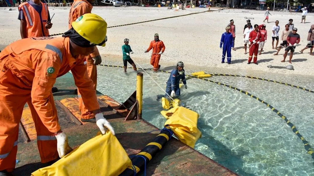
[[[21,3],[19,10],[23,10],[26,20],[26,37],[45,37],[49,35],[48,29],[45,27],[48,22],[48,6],[41,3],[41,14],[33,8],[28,2]]]

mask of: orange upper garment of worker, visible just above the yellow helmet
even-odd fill
[[[69,12],[69,29],[72,28],[72,22],[75,21],[79,16],[83,15],[83,14],[75,15],[74,12],[76,8],[82,8],[81,13],[85,14],[91,13],[93,6],[86,0],[74,0]]]

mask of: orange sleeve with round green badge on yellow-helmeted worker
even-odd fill
[[[45,127],[50,132],[57,132],[60,130],[57,111],[54,110],[54,105],[51,104],[49,98],[61,67],[61,61],[60,58],[43,51],[35,51],[32,52],[33,54],[41,58],[34,63],[36,68],[31,90],[32,104]]]

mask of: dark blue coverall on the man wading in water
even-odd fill
[[[179,87],[180,80],[182,80],[183,84],[187,84],[184,73],[180,75],[177,69],[172,70],[170,73],[169,79],[167,81],[167,87],[166,87],[166,92],[168,95],[171,94],[171,91],[175,91],[176,96],[181,95],[181,91]],[[167,94],[165,95],[166,97],[168,96]]]

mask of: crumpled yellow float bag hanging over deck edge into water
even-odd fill
[[[202,136],[197,128],[198,113],[181,106],[160,113],[168,119],[165,126],[168,125],[181,142],[194,148],[195,142]]]

